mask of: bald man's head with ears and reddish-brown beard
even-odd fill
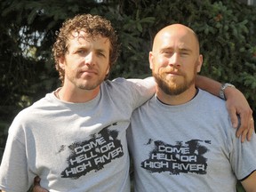
[[[150,68],[158,87],[168,95],[179,95],[195,87],[203,62],[196,37],[186,28],[166,28],[157,34],[149,53]]]

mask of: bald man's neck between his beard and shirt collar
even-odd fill
[[[192,100],[197,93],[197,89],[193,84],[188,90],[180,93],[179,95],[169,95],[164,93],[159,87],[156,89],[156,96],[158,100],[163,102],[166,105],[181,105],[187,103],[189,100]]]

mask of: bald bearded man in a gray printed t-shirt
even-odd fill
[[[256,136],[236,139],[225,101],[195,85],[203,56],[195,32],[174,24],[154,39],[156,95],[132,114],[128,144],[136,192],[256,191]]]

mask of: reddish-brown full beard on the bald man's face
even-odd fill
[[[188,76],[184,73],[181,73],[179,71],[179,77],[183,77],[183,80],[181,83],[180,82],[180,79],[177,79],[175,77],[173,78],[167,78],[167,74],[165,73],[165,71],[162,71],[158,74],[156,73],[152,73],[152,75],[155,77],[155,80],[156,80],[156,84],[157,86],[165,93],[165,94],[168,94],[168,95],[179,95],[181,94],[182,92],[185,92],[188,90],[188,88],[192,85],[192,84],[195,84],[196,82],[196,68],[194,70],[194,76],[190,79],[188,79]]]

